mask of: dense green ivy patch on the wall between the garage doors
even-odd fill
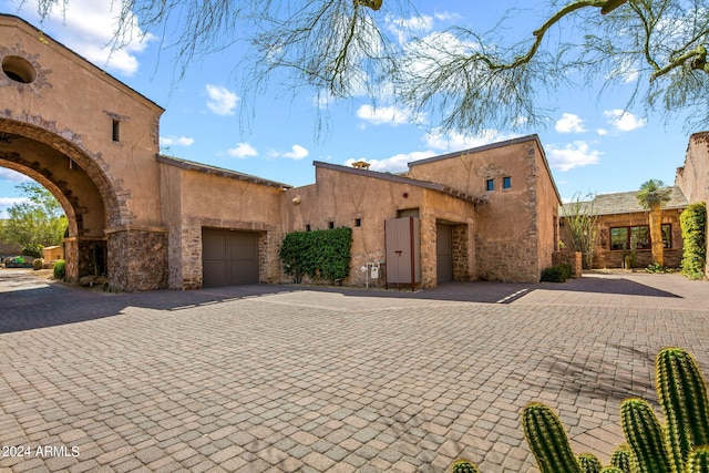
[[[300,282],[304,276],[335,282],[350,274],[352,229],[292,232],[280,247],[284,271]]]

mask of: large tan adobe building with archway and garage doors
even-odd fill
[[[0,166],[61,203],[72,280],[99,271],[127,291],[288,281],[284,236],[339,226],[353,239],[345,285],[534,282],[558,246],[561,199],[536,135],[402,175],[316,162],[315,183],[292,188],[160,155],[162,107],[17,17],[0,14]]]

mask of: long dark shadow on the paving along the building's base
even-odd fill
[[[446,282],[435,289],[352,289],[302,285],[230,286],[195,291],[156,290],[132,294],[106,294],[47,282],[29,274],[0,277],[0,333],[32,330],[66,323],[96,320],[120,315],[126,307],[155,310],[218,304],[235,299],[287,292],[336,292],[346,297],[405,298],[483,304],[510,304],[534,290],[562,290],[649,297],[675,294],[653,288],[623,277],[584,277],[566,284]],[[18,279],[19,278],[19,279]]]

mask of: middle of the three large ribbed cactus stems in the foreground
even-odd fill
[[[637,459],[640,473],[670,473],[660,423],[647,401],[626,399],[620,404],[623,433]]]

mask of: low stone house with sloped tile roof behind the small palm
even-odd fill
[[[662,207],[662,241],[665,266],[679,267],[682,259],[682,233],[679,214],[687,208],[687,199],[677,186],[670,187],[670,200]],[[637,200],[638,191],[599,194],[590,202],[583,203],[582,212],[598,217],[598,240],[594,251],[594,268],[623,268],[626,257],[631,257],[631,267],[645,268],[653,263],[649,210]],[[562,240],[564,239],[565,216],[577,212],[575,204],[562,208]],[[635,246],[635,251],[633,251]]]

